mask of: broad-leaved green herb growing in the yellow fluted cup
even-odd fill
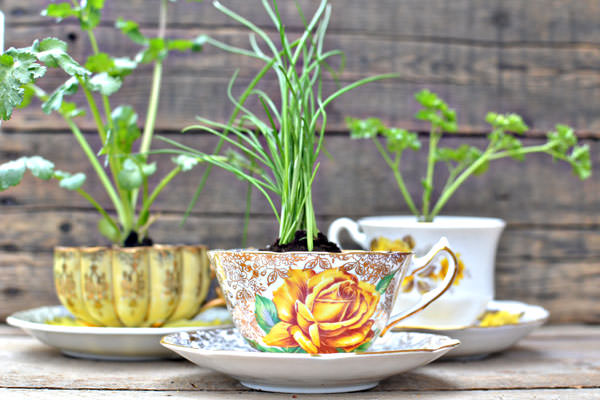
[[[173,170],[150,191],[148,179],[156,172],[156,163],[148,161],[148,152],[154,134],[163,63],[170,51],[200,51],[204,43],[202,36],[195,40],[166,38],[168,1],[173,0],[160,2],[157,37],[145,36],[133,21],[118,19],[116,28],[142,47],[134,58],[113,57],[101,52],[94,32],[101,20],[104,0],[52,3],[42,11],[42,15],[56,18],[59,22],[66,18],[79,21],[93,49],[93,54],[83,65],[68,54],[67,44],[56,38],[36,40],[27,48],[11,48],[0,56],[0,117],[9,119],[15,108],[28,106],[34,97],[43,102],[45,113],[60,114],[94,168],[117,218],[113,218],[105,207],[83,189],[86,180],[83,173],[70,174],[55,170],[52,162],[38,156],[24,157],[0,166],[0,190],[18,184],[25,170],[29,169],[34,176],[58,180],[61,187],[74,190],[88,200],[102,216],[98,224],[99,231],[112,242],[137,245],[144,241],[153,221],[150,207],[157,196],[176,175],[197,164],[195,158],[174,158]],[[138,126],[138,114],[131,106],[113,108],[110,102],[110,96],[121,88],[125,77],[141,64],[154,66],[143,132]],[[48,68],[61,69],[68,75],[66,82],[52,93],[46,93],[36,85]],[[99,151],[91,148],[75,122],[86,110],[66,100],[78,90],[85,95],[87,110],[93,116],[103,143]],[[134,152],[134,144],[138,139],[139,153]],[[104,165],[102,156],[105,157]],[[138,205],[141,208],[136,212]]]

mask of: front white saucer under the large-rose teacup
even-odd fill
[[[382,379],[432,362],[460,342],[434,334],[391,332],[364,353],[263,353],[229,328],[178,332],[165,336],[161,344],[251,389],[339,393],[375,387]]]

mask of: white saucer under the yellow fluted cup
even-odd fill
[[[57,318],[73,318],[63,306],[34,308],[12,314],[6,319],[9,325],[19,327],[48,346],[66,355],[95,360],[140,361],[173,358],[174,354],[160,345],[164,335],[173,332],[209,329],[229,321],[229,313],[221,309],[209,309],[198,316],[196,326],[173,326],[161,328],[109,328],[89,326],[52,325],[47,321]],[[191,321],[194,322],[194,321]],[[210,324],[208,327],[199,325]]]

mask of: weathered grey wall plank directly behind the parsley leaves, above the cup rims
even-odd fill
[[[212,152],[216,140],[207,135],[173,135],[173,139],[194,148]],[[94,149],[100,143],[88,136]],[[482,138],[448,137],[443,146],[457,147],[467,143],[482,148]],[[528,139],[526,144],[537,144]],[[472,177],[444,209],[445,214],[477,215],[504,218],[519,226],[569,225],[593,229],[600,225],[600,142],[585,140],[591,147],[594,175],[581,182],[566,163],[555,163],[547,155],[531,155],[525,163],[506,159],[494,162],[483,177]],[[0,162],[24,155],[39,154],[53,160],[56,167],[70,172],[85,172],[88,182],[84,188],[102,204],[110,204],[104,189],[97,184],[94,172],[75,139],[69,134],[5,134],[0,136]],[[164,148],[156,142],[155,148]],[[317,214],[331,218],[365,215],[403,214],[408,210],[401,199],[391,171],[369,141],[350,140],[347,135],[334,135],[326,140],[333,159],[323,157],[314,185]],[[409,190],[420,198],[420,180],[425,171],[425,154],[408,152],[404,155],[403,173]],[[167,174],[172,163],[169,156],[159,161],[154,183]],[[202,168],[181,174],[171,189],[159,196],[155,212],[174,213],[184,210],[192,198],[202,175]],[[443,177],[440,166],[438,177]],[[438,190],[441,188],[438,180]],[[232,174],[214,169],[195,212],[200,215],[241,215],[245,207],[246,185]],[[55,183],[39,181],[30,175],[23,184],[0,194],[0,212],[27,210],[67,210],[90,207],[79,196],[60,189]],[[252,212],[271,215],[262,195],[255,193]],[[27,223],[27,222],[24,222]],[[326,226],[322,225],[325,230]],[[90,230],[91,231],[91,230]],[[8,233],[7,233],[8,234]],[[0,234],[0,237],[2,235]]]

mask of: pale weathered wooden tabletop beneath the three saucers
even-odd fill
[[[420,392],[428,396],[440,391],[462,395],[464,391],[494,390],[499,391],[495,393],[497,396],[515,398],[511,396],[512,389],[598,389],[600,328],[583,336],[571,334],[578,330],[577,326],[553,328],[551,336],[544,335],[544,329],[523,339],[516,347],[484,360],[433,363],[387,379],[373,391],[338,397],[363,398],[366,395],[377,398],[375,396],[380,394],[398,396],[398,392],[413,396],[416,393],[411,392]],[[194,395],[220,392],[238,396],[248,392],[231,378],[185,361],[115,363],[72,359],[23,336],[3,337],[0,356],[3,360],[0,363],[2,388],[182,391]],[[556,391],[531,393],[544,396]],[[584,390],[578,393],[583,396],[596,392]]]

